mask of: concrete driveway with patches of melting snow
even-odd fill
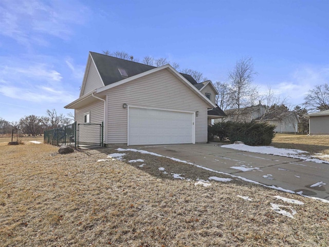
[[[326,163],[221,148],[214,143],[147,146],[140,149],[186,160],[269,186],[274,185],[295,192],[303,191],[304,195],[329,199],[329,164]]]

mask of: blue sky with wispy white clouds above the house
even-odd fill
[[[302,104],[329,83],[329,1],[0,1],[0,117],[59,113],[79,96],[89,51],[151,55],[226,81],[252,57],[270,85]]]

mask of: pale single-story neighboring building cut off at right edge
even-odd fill
[[[329,135],[329,110],[306,114],[310,135]]]

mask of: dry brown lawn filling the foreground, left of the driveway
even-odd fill
[[[164,157],[125,152],[125,161],[97,162],[117,151],[57,151],[0,143],[2,246],[329,245],[328,203],[240,180],[194,186],[196,178],[221,175]],[[127,162],[138,158],[143,167]],[[270,203],[297,213],[280,215]]]

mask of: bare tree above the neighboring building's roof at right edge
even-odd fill
[[[304,104],[310,111],[329,110],[329,84],[316,85],[304,97]]]

